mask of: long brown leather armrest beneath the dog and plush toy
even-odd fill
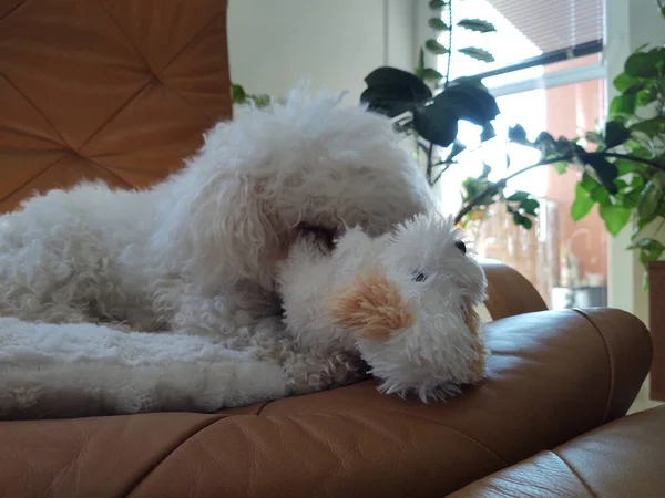
[[[634,400],[651,339],[614,310],[488,325],[481,385],[449,402],[374,381],[216,415],[0,423],[6,496],[441,496],[612,418]]]

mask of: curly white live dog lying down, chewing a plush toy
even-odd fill
[[[238,347],[258,341],[252,330],[287,341],[275,320],[275,271],[304,231],[380,235],[431,209],[387,118],[294,92],[216,124],[181,170],[150,189],[82,184],[1,216],[0,317]]]

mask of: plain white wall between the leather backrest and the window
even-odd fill
[[[231,0],[231,77],[277,96],[309,79],[355,103],[379,65],[411,70],[413,30],[413,0]]]

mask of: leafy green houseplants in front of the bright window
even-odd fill
[[[450,15],[454,1],[430,2],[430,7],[434,11],[443,9]],[[657,6],[665,17],[664,0],[657,0]],[[473,22],[484,25],[480,30],[493,29],[484,21]],[[437,18],[430,20],[434,29],[442,28],[441,23]],[[448,28],[452,27],[446,25]],[[426,42],[424,48],[434,53],[449,53],[448,48],[434,45],[432,40]],[[419,65],[412,74],[395,68],[372,71],[365,80],[368,87],[362,100],[370,110],[393,117],[397,131],[413,135],[419,149],[427,154],[426,176],[433,186],[449,167],[463,167],[454,160],[464,149],[457,141],[458,122],[467,120],[480,125],[481,138],[487,141],[494,136],[492,121],[499,108],[480,81],[450,81],[449,74],[424,68],[422,53],[421,50]],[[436,82],[434,92],[427,85],[431,81]],[[559,173],[576,168],[582,175],[575,186],[573,219],[582,219],[598,205],[612,236],[634,220],[631,249],[640,251],[643,263],[659,258],[665,246],[644,234],[654,221],[658,222],[657,229],[665,222],[665,48],[637,50],[626,60],[625,71],[615,79],[614,85],[620,94],[612,101],[608,120],[601,131],[573,139],[555,138],[543,132],[530,142],[522,126],[511,128],[508,141],[539,149],[541,159],[498,181],[489,180],[489,166],[479,177],[468,178],[462,185],[463,203],[456,216],[457,222],[464,225],[477,219],[489,206],[502,201],[514,222],[529,229],[538,216],[539,201],[523,191],[507,193],[508,181],[541,166],[551,165]],[[447,147],[443,158],[434,159],[436,146]]]

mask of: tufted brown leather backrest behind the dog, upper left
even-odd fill
[[[226,0],[0,0],[0,211],[145,187],[231,115]]]

